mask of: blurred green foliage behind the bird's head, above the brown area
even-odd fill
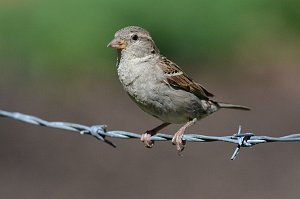
[[[292,0],[5,0],[0,25],[1,68],[34,73],[111,71],[115,52],[106,45],[128,25],[148,29],[163,54],[187,65],[272,63],[300,50],[300,3]]]

